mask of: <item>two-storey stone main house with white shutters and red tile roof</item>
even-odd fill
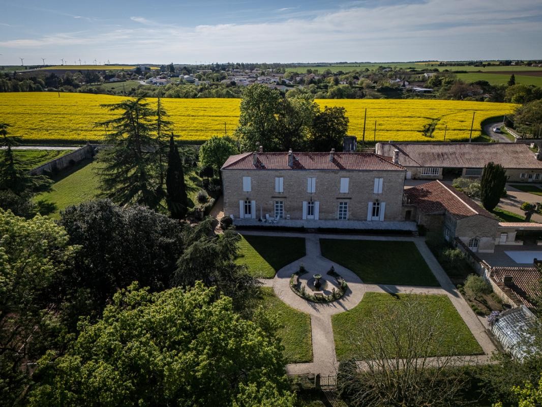
[[[260,149],[229,157],[221,171],[224,214],[236,225],[258,220],[343,228],[359,227],[356,222],[411,223],[397,222],[403,220],[405,169],[373,153]]]

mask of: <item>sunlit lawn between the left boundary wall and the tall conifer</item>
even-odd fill
[[[35,200],[44,200],[56,204],[56,211],[51,217],[58,218],[59,211],[70,205],[91,201],[99,194],[99,178],[96,174],[96,162],[78,168],[73,173],[53,184],[53,191],[37,195]]]

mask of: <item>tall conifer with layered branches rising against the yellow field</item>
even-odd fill
[[[164,135],[158,132],[157,111],[142,97],[102,107],[120,113],[96,124],[108,129],[104,143],[110,145],[99,155],[104,196],[120,205],[158,207],[164,198],[160,163]]]

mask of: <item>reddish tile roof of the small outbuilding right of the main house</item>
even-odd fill
[[[497,220],[486,209],[479,206],[467,195],[440,181],[431,181],[405,189],[407,203],[413,203],[426,214],[449,212],[455,219],[482,215]]]

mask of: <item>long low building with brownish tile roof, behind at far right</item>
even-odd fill
[[[481,177],[488,162],[512,182],[542,182],[542,161],[521,143],[377,143],[376,154],[406,168],[407,179]]]

